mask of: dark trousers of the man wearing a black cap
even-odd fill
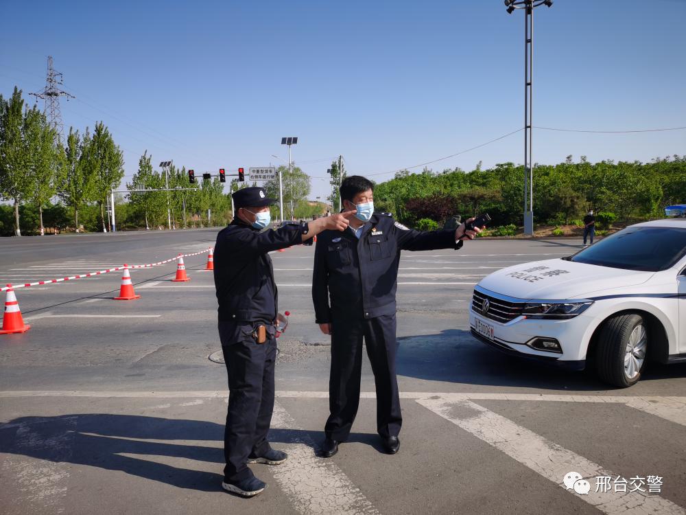
[[[276,339],[270,326],[265,343],[257,343],[252,331],[252,324],[219,323],[229,389],[224,429],[225,481],[252,477],[246,464],[248,456],[270,450],[267,433],[274,411]]]

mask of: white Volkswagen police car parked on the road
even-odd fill
[[[474,288],[469,323],[508,354],[588,365],[619,387],[650,359],[686,363],[686,220],[632,225],[569,258],[492,273]]]

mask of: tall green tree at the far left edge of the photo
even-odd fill
[[[0,196],[14,202],[15,236],[21,236],[19,205],[32,193],[23,108],[21,90],[16,87],[7,100],[0,95]]]

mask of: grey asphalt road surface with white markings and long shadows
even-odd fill
[[[216,232],[8,238],[0,280],[157,262],[206,249]],[[683,514],[685,365],[655,365],[634,387],[612,389],[591,374],[508,358],[469,334],[481,277],[579,248],[480,240],[403,253],[401,450],[381,453],[365,359],[353,434],[331,459],[316,457],[330,362],[311,306],[313,249],[273,253],[292,316],[279,339],[271,440],[291,458],[253,466],[269,487],[250,500],[220,486],[226,371],[208,358],[220,345],[206,254],[186,260],[187,283],[169,281],[174,264],[132,271],[136,301],[111,300],[120,273],[16,290],[32,328],[0,336],[1,512]],[[571,471],[589,479],[589,494],[565,488]],[[652,483],[659,491],[648,492],[649,476],[662,478]],[[610,491],[595,492],[596,477],[611,478]]]

